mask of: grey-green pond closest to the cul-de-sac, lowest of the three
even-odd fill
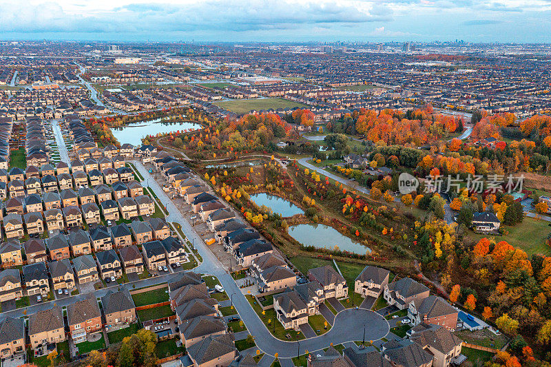
[[[333,227],[325,224],[297,224],[289,227],[289,235],[304,246],[313,246],[317,249],[335,249],[335,244],[340,251],[349,251],[365,255],[371,249],[360,242],[355,242],[346,235],[342,235]]]

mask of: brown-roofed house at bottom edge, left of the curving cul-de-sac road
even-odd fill
[[[229,366],[236,357],[237,349],[233,335],[209,335],[189,346],[187,353],[197,367]]]

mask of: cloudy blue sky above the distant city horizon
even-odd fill
[[[0,39],[551,42],[551,0],[0,0]]]

